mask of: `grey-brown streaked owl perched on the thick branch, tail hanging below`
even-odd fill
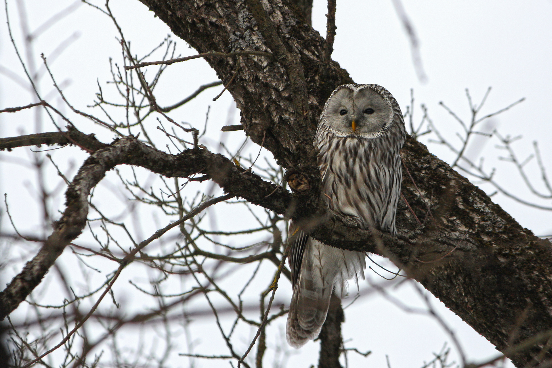
[[[366,230],[396,234],[401,193],[399,151],[406,136],[395,98],[377,84],[343,84],[328,98],[314,145],[322,194],[328,207]],[[326,320],[332,292],[343,297],[347,280],[364,279],[364,252],[337,249],[290,225],[288,262],[293,297],[286,337],[295,348],[316,338]]]

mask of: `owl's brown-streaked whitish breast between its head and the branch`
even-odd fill
[[[385,136],[340,136],[319,125],[315,144],[328,206],[357,219],[363,228],[395,232],[401,163],[397,145]]]

